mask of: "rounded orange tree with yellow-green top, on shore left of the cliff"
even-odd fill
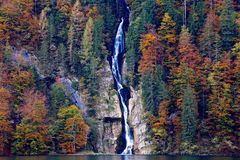
[[[75,153],[87,143],[88,126],[74,105],[59,110],[55,131],[62,152]]]

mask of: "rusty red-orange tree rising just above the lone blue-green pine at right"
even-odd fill
[[[183,26],[179,44],[178,44],[178,56],[179,66],[171,70],[170,82],[171,92],[176,98],[176,104],[180,107],[183,96],[183,88],[187,87],[187,84],[193,85],[197,91],[201,88],[202,80],[200,64],[202,58],[192,43],[191,34],[188,29]]]

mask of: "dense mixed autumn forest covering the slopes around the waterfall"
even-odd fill
[[[0,155],[99,152],[122,3],[0,0]],[[126,3],[122,71],[141,90],[151,153],[239,154],[240,1]]]

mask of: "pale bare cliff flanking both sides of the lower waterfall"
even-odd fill
[[[123,75],[126,73],[126,63],[123,65]],[[114,89],[114,80],[108,62],[100,70],[101,96],[95,107],[98,119],[98,151],[102,153],[116,153],[116,140],[122,132],[122,113],[117,91]],[[145,112],[141,100],[141,90],[130,87],[129,124],[134,132],[134,152],[149,154],[152,152],[148,141]]]

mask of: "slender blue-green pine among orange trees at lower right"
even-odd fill
[[[182,140],[194,142],[197,130],[197,103],[190,85],[184,89],[181,113]]]

